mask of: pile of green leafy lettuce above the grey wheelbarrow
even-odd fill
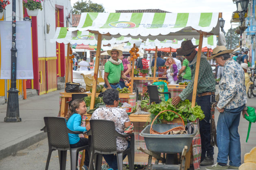
[[[148,110],[153,116],[156,116],[159,112],[163,110],[173,110],[174,112],[177,112],[184,122],[187,122],[187,119],[189,121],[195,121],[197,118],[200,120],[204,119],[205,115],[204,112],[201,109],[201,106],[195,105],[195,107],[191,108],[191,102],[189,100],[180,101],[178,105],[172,105],[171,104],[172,99],[168,99],[167,101],[162,101],[159,104],[154,104],[150,109]],[[158,118],[156,119],[157,122],[160,122],[164,119],[166,121],[172,121],[174,118],[178,118],[179,116],[173,112],[163,112],[161,113]]]

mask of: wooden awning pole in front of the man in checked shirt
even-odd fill
[[[196,98],[197,81],[198,81],[198,74],[199,74],[199,67],[200,67],[200,60],[201,60],[201,53],[202,53],[202,44],[203,44],[203,32],[200,33],[200,38],[199,38],[191,108],[195,107],[195,98]]]

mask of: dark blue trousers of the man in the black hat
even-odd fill
[[[210,95],[196,97],[197,105],[201,106],[205,115],[204,119],[199,122],[202,144],[201,160],[206,156],[213,157],[214,155],[213,146],[210,144],[210,97]]]

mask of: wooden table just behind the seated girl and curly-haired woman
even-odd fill
[[[60,116],[65,117],[68,110],[68,103],[67,101],[69,98],[72,97],[72,94],[87,94],[91,96],[91,93],[60,93],[61,94],[61,106],[60,106]],[[100,93],[96,93],[96,97],[98,97]],[[130,103],[130,95],[135,95],[136,93],[119,93],[119,98],[121,99],[128,99],[128,103]]]

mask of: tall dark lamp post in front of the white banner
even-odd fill
[[[17,48],[16,48],[16,0],[12,2],[12,47],[11,47],[11,88],[8,90],[5,122],[20,122],[19,90],[16,88]]]

